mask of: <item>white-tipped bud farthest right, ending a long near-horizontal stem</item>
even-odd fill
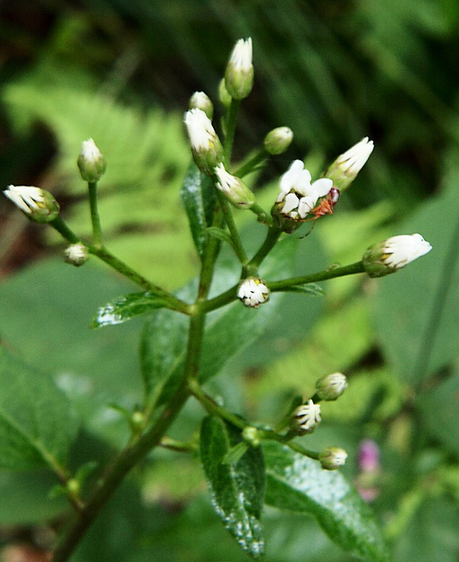
[[[370,277],[383,277],[424,256],[432,246],[420,234],[392,236],[368,248],[363,266]]]

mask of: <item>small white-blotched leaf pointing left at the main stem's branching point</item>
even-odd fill
[[[122,324],[127,322],[127,320],[131,320],[131,318],[136,318],[136,316],[155,311],[158,308],[164,308],[165,306],[167,306],[165,299],[150,292],[129,293],[124,296],[118,296],[116,299],[98,308],[91,328]]]

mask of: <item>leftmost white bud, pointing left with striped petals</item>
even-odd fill
[[[30,185],[8,185],[4,195],[35,223],[49,223],[59,214],[59,204],[49,191]]]

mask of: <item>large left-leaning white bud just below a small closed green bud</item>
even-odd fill
[[[188,110],[184,121],[196,166],[207,176],[212,176],[214,167],[223,158],[223,147],[212,121],[198,108]]]

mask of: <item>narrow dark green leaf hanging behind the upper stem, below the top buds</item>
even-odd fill
[[[207,227],[212,224],[215,191],[210,178],[192,162],[183,180],[181,199],[190,223],[191,234],[200,259],[207,244]]]

